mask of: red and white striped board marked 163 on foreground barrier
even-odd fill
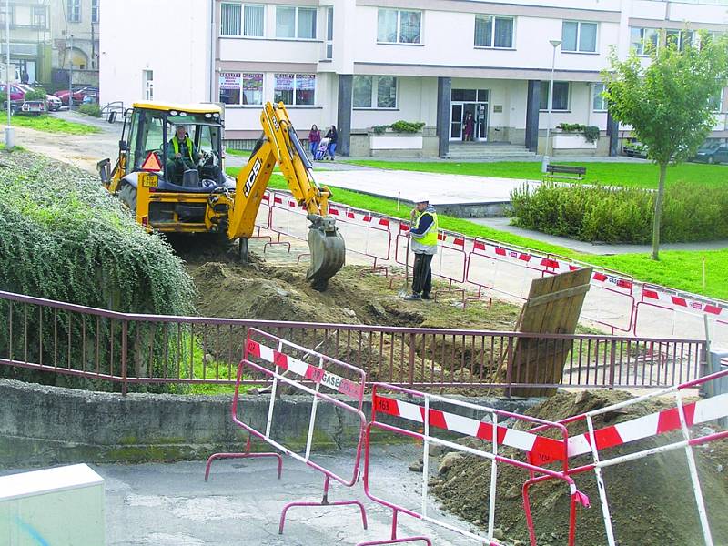
[[[402,419],[423,424],[425,422],[425,409],[422,406],[410,402],[376,395],[374,397],[374,409],[380,413],[386,413]],[[431,427],[450,430],[451,432],[460,432],[460,434],[467,434],[480,440],[493,440],[493,425],[470,417],[430,409],[429,424]],[[554,459],[563,459],[563,441],[544,438],[531,432],[509,429],[500,425],[496,426],[495,430],[497,435],[496,440],[499,445],[506,445],[527,452],[538,451],[540,453],[548,453]]]

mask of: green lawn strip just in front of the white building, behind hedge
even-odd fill
[[[497,163],[399,162],[381,160],[349,161],[353,165],[386,169],[470,175],[474,177],[528,178],[541,180],[541,163],[502,161]],[[560,162],[561,164],[561,162]],[[657,187],[658,167],[652,163],[563,163],[586,167],[585,183],[601,182],[612,186]],[[683,163],[670,167],[667,182],[700,182],[728,188],[728,166]]]

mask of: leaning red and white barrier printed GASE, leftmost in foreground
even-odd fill
[[[307,362],[306,360],[308,359],[311,362]],[[265,429],[263,430],[258,430],[253,424],[246,422],[244,420],[244,412],[238,411],[242,406],[239,402],[239,387],[244,372],[273,379],[268,401],[268,418]],[[288,510],[297,506],[356,506],[361,513],[364,529],[367,528],[367,512],[360,501],[329,501],[330,480],[338,481],[345,487],[352,487],[359,480],[359,462],[361,460],[366,424],[366,418],[361,411],[365,384],[366,374],[362,369],[341,362],[340,360],[332,359],[314,350],[302,348],[285,339],[272,336],[258,329],[248,329],[245,355],[238,365],[238,380],[236,382],[235,395],[231,408],[233,422],[243,430],[247,430],[249,435],[259,440],[264,440],[282,453],[303,462],[324,475],[322,501],[288,502],[280,514],[279,533],[283,533]],[[275,431],[285,427],[285,423],[277,422],[275,413],[277,393],[281,385],[286,385],[298,390],[299,393],[308,394],[311,397],[308,431],[306,431],[306,447],[303,454],[299,454],[295,450],[288,448],[274,438],[276,435]],[[329,389],[334,394],[345,395],[354,402],[354,405],[351,406],[344,401],[335,399],[330,394],[321,392],[321,389]],[[349,414],[355,421],[359,421],[359,439],[354,452],[352,470],[349,477],[340,476],[335,471],[329,470],[325,466],[325,463],[319,463],[312,458],[311,449],[316,427],[316,416],[319,404],[321,403],[332,404],[338,410]]]

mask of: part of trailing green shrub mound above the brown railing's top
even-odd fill
[[[95,177],[27,152],[0,154],[0,289],[158,314],[194,298],[172,248]]]

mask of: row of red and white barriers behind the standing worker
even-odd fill
[[[278,238],[270,237],[269,245],[290,244],[281,235],[306,240],[306,211],[293,198],[282,192],[269,192],[258,212],[257,237],[269,229]],[[339,229],[347,239],[349,251],[373,260],[373,271],[385,271],[388,263],[405,266],[406,232],[409,227],[399,218],[332,203],[331,216],[338,218]],[[410,259],[410,262],[413,260]],[[503,246],[485,238],[467,238],[457,233],[440,231],[440,248],[433,258],[432,273],[448,281],[450,289],[467,285],[499,292],[512,298],[525,299],[531,280],[586,267],[588,264],[555,254],[540,254],[528,248]],[[411,268],[411,263],[410,263]],[[391,279],[393,282],[399,277]],[[390,282],[391,284],[391,282]],[[468,298],[463,298],[466,301]],[[645,317],[647,315],[647,317]],[[708,301],[684,295],[670,288],[635,281],[629,276],[604,268],[595,268],[591,290],[587,292],[581,316],[611,330],[634,335],[661,337],[672,326],[672,333],[684,337],[684,329],[700,331],[697,318],[708,316],[713,339],[728,347],[728,303]]]

